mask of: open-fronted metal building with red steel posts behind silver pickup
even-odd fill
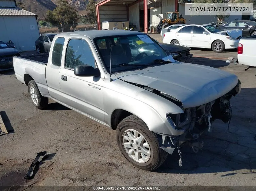
[[[102,0],[96,4],[98,29],[102,29],[104,21],[129,21],[135,30],[147,33],[151,25],[156,26],[156,22],[160,21],[160,18],[154,19],[152,15],[159,17],[159,14],[176,10],[178,0]],[[129,26],[122,29],[124,27]]]

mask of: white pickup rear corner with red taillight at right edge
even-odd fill
[[[237,63],[248,65],[248,68],[245,70],[256,66],[255,44],[256,35],[244,37],[239,40]]]

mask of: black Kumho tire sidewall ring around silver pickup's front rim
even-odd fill
[[[127,129],[134,129],[134,130],[138,131],[147,140],[150,150],[151,150],[151,156],[147,162],[138,163],[138,162],[134,161],[125,151],[125,148],[122,143],[122,135],[125,132],[125,130],[127,130]],[[158,161],[159,161],[158,144],[155,142],[155,139],[151,135],[151,132],[148,129],[145,129],[140,124],[130,121],[130,120],[121,122],[117,128],[116,138],[117,138],[117,144],[118,144],[122,154],[135,167],[143,169],[143,170],[151,170],[151,169],[154,169],[154,167],[158,164]]]

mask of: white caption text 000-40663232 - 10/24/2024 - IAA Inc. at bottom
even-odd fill
[[[160,190],[158,186],[93,186],[93,190]]]

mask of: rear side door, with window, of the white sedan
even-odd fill
[[[181,45],[191,46],[192,28],[193,26],[183,27],[175,34]]]

